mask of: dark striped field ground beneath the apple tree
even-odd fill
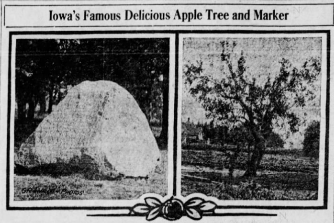
[[[300,154],[266,154],[257,177],[243,177],[246,154],[229,179],[224,153],[182,150],[182,195],[203,193],[218,199],[314,200],[318,190],[318,161]]]

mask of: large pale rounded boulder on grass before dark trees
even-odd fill
[[[133,177],[148,176],[159,160],[144,113],[112,81],[84,81],[71,88],[15,156],[15,163],[26,168],[58,163],[55,168],[93,167],[102,175]]]

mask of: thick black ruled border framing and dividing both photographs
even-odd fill
[[[255,30],[157,30],[157,31],[10,31],[9,32],[9,73],[8,73],[8,117],[7,117],[7,180],[6,180],[6,209],[7,210],[112,210],[112,209],[131,209],[131,206],[45,206],[45,207],[15,207],[10,206],[9,193],[10,193],[10,133],[11,128],[11,91],[12,91],[12,73],[11,73],[11,55],[12,55],[12,37],[13,35],[73,35],[73,34],[173,34],[175,35],[175,100],[174,100],[174,142],[173,142],[173,195],[176,195],[177,184],[176,184],[176,173],[177,166],[177,123],[178,123],[178,60],[179,60],[179,34],[307,34],[307,33],[324,33],[326,34],[326,107],[325,107],[325,160],[324,160],[324,197],[322,206],[250,206],[250,205],[220,205],[217,209],[327,209],[327,198],[328,198],[328,150],[329,150],[329,87],[330,87],[330,30],[289,30],[289,31],[277,31],[277,30],[266,30],[266,31],[255,31]],[[169,77],[170,78],[170,77]],[[224,215],[224,214],[223,214]],[[252,215],[252,214],[251,214]],[[128,215],[127,215],[128,216]],[[222,216],[222,214],[209,214],[209,216]]]

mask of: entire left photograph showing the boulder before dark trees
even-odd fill
[[[167,194],[169,41],[16,40],[14,200]]]

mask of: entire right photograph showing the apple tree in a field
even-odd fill
[[[323,40],[249,37],[183,38],[181,194],[317,200]]]

